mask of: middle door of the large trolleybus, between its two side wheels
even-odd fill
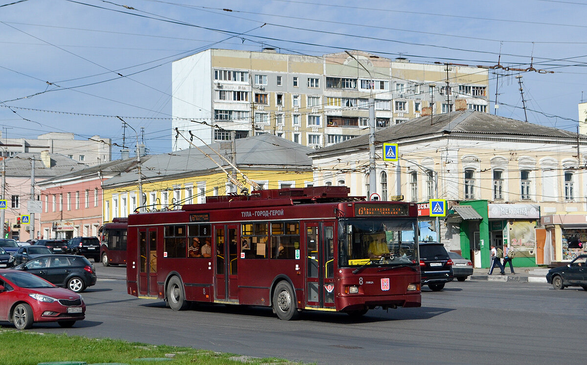
[[[214,241],[215,299],[222,302],[238,302],[238,225],[215,225]]]

